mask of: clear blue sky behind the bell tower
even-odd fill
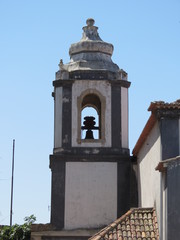
[[[13,223],[50,220],[52,81],[81,39],[86,19],[114,45],[128,72],[132,151],[151,101],[180,98],[179,0],[0,1],[0,224],[9,224],[12,141],[16,139]]]

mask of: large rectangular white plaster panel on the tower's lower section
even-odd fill
[[[117,218],[117,163],[67,162],[65,229],[98,228]]]

